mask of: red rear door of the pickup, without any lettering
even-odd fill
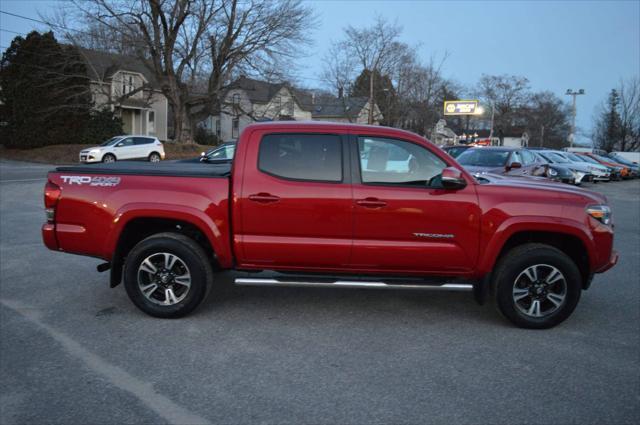
[[[250,137],[234,201],[240,265],[346,268],[353,216],[344,136],[256,131]]]

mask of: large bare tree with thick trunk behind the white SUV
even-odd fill
[[[72,0],[72,8],[94,46],[133,52],[153,73],[180,141],[220,108],[235,76],[292,68],[314,25],[299,0]]]

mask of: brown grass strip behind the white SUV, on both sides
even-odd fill
[[[82,149],[95,145],[52,145],[33,149],[7,149],[0,146],[0,158],[44,164],[77,164]],[[195,143],[164,143],[165,159],[185,159],[200,156],[213,146]]]

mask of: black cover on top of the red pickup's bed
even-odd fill
[[[138,176],[174,176],[174,177],[229,177],[231,164],[182,163],[162,161],[159,163],[142,161],[120,161],[111,164],[65,165],[56,168],[57,172],[80,174],[126,174]]]

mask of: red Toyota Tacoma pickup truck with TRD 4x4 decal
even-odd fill
[[[604,196],[476,179],[385,127],[253,124],[231,164],[58,167],[44,202],[45,245],[104,259],[157,317],[191,312],[235,269],[239,285],[468,289],[548,328],[617,260]]]

